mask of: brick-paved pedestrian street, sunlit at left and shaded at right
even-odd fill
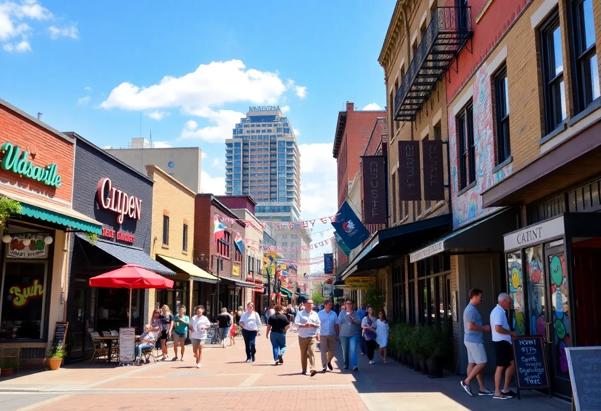
[[[179,410],[561,410],[570,405],[536,392],[522,400],[471,398],[460,377],[432,380],[389,361],[369,365],[359,355],[359,371],[341,371],[340,346],[334,371],[300,374],[297,336],[288,333],[284,364],[274,366],[265,329],[257,338],[257,361],[246,364],[244,344],[207,347],[197,370],[190,346],[185,361],[142,367],[108,367],[85,362],[58,371],[21,371],[0,380],[2,410],[127,410],[175,407]],[[170,350],[169,355],[172,355]],[[317,353],[319,358],[319,352]]]

